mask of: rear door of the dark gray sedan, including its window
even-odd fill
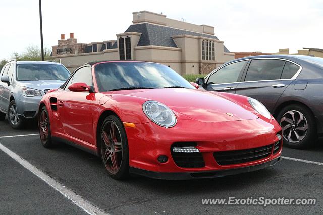
[[[278,99],[300,69],[301,66],[284,59],[252,59],[236,94],[257,99],[273,113]]]

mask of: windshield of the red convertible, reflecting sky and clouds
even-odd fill
[[[194,88],[168,66],[145,62],[109,62],[95,66],[99,91],[145,88]]]

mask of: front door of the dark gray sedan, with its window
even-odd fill
[[[235,93],[247,62],[248,60],[237,61],[215,70],[211,75],[206,77],[205,89],[209,91]]]

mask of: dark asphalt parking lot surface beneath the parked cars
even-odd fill
[[[111,179],[99,158],[68,145],[41,146],[37,125],[13,130],[0,122],[0,144],[44,175],[82,197],[102,213],[214,214],[322,213],[323,140],[309,150],[284,148],[279,164],[264,170],[215,179],[163,181]],[[300,161],[290,158],[303,159]],[[19,160],[19,159],[18,159]],[[317,163],[314,163],[317,162]],[[0,213],[86,214],[73,196],[63,195],[0,150]],[[203,205],[205,198],[315,198],[316,205]],[[70,200],[70,199],[72,200]]]

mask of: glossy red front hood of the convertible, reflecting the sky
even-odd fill
[[[258,118],[236,101],[230,100],[220,93],[195,89],[144,89],[115,91],[114,94],[158,101],[175,112],[201,122],[239,121]]]

